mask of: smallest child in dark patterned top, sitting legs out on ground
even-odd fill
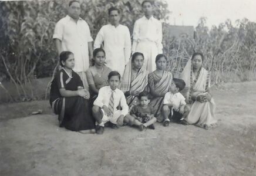
[[[146,127],[154,130],[156,117],[154,117],[153,108],[149,106],[149,93],[141,92],[139,94],[139,100],[140,104],[134,106],[130,111],[130,116],[133,116],[135,118],[134,121],[136,121],[136,123],[133,124],[139,126],[140,131],[143,131]]]

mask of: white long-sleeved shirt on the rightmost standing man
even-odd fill
[[[162,53],[162,35],[161,22],[153,16],[149,19],[143,16],[134,23],[132,51],[136,50],[137,43],[140,41],[149,41],[155,42],[159,53]]]

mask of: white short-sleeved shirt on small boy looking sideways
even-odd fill
[[[180,93],[173,94],[167,92],[164,96],[163,104],[173,104],[173,109],[178,109],[181,105],[186,105],[185,97]]]

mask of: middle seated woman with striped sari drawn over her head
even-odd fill
[[[139,104],[138,96],[147,86],[148,72],[142,69],[143,62],[143,53],[136,52],[124,70],[121,90],[126,96],[129,109]]]

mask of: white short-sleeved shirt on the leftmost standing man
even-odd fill
[[[90,29],[82,18],[75,22],[67,15],[56,23],[53,39],[62,42],[62,51],[68,50],[74,53],[76,72],[85,72],[89,67],[88,42],[92,42]]]

